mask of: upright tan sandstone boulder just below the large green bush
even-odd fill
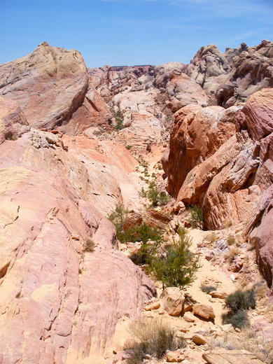
[[[163,301],[164,309],[170,316],[178,316],[183,309],[185,295],[178,287],[168,287],[163,290],[160,298]]]

